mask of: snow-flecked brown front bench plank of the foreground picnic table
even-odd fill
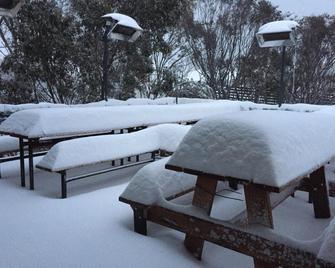
[[[249,233],[245,229],[233,227],[225,222],[200,219],[159,206],[148,209],[147,219],[242,254],[257,257],[257,260],[272,265],[292,268],[316,267],[317,259],[313,253]],[[272,234],[271,239],[273,237]],[[319,267],[335,267],[335,265],[323,262]]]

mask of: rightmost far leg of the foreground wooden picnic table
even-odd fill
[[[313,202],[315,218],[330,218],[330,207],[324,167],[310,175],[310,196]]]

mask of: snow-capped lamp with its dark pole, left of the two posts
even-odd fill
[[[108,100],[108,60],[109,40],[121,40],[126,42],[135,42],[143,32],[143,29],[131,17],[120,13],[109,13],[102,16],[106,20],[105,32],[103,35],[104,56],[103,56],[103,81],[102,96],[105,101]]]

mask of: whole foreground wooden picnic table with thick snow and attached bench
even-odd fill
[[[315,217],[330,218],[324,165],[335,156],[335,125],[329,122],[327,116],[278,111],[201,120],[165,166],[196,176],[191,207],[167,202],[162,182],[142,184],[136,175],[119,199],[132,206],[136,232],[147,233],[147,220],[184,232],[185,247],[198,259],[206,240],[253,257],[255,267],[335,267],[334,248],[329,251],[335,220],[331,235],[315,248],[272,230],[272,208],[303,185],[313,197]],[[147,180],[159,173],[147,174]],[[170,181],[183,179],[170,175]],[[243,185],[245,225],[210,217],[218,181]]]

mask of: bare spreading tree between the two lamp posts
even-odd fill
[[[248,58],[258,27],[280,17],[268,1],[199,0],[185,23],[194,67],[212,89],[212,98],[229,98],[241,81],[243,59]]]

